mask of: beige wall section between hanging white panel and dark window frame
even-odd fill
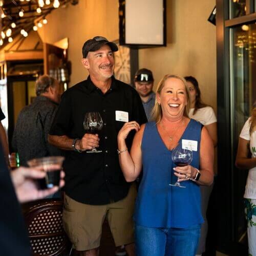
[[[192,75],[202,99],[216,110],[216,27],[207,19],[215,0],[167,0],[167,47],[139,52],[139,67],[155,76],[155,88],[168,73]]]

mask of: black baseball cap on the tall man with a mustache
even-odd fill
[[[82,57],[86,58],[89,52],[94,52],[100,49],[103,45],[109,45],[112,52],[118,51],[118,47],[114,42],[110,42],[103,36],[95,36],[87,40],[82,47]]]

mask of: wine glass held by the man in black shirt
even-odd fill
[[[96,134],[102,129],[103,122],[99,112],[87,112],[84,116],[83,127],[87,133]],[[101,150],[96,150],[95,147],[87,153],[100,153]]]

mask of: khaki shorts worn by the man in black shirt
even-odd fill
[[[135,184],[131,185],[124,199],[106,205],[83,204],[65,195],[63,227],[73,248],[78,251],[98,248],[105,217],[108,219],[116,246],[133,243],[136,196]]]

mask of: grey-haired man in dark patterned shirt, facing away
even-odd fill
[[[62,93],[61,86],[56,79],[42,75],[36,80],[35,91],[35,100],[18,115],[12,138],[12,146],[23,166],[33,158],[61,155],[58,148],[48,143],[48,133]]]

